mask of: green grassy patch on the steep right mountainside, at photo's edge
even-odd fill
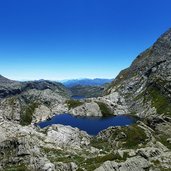
[[[148,93],[152,100],[152,106],[156,108],[158,114],[171,115],[171,101],[159,88],[151,86]]]

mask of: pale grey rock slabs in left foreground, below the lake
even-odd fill
[[[12,122],[0,122],[0,170],[7,166],[15,168],[27,166],[29,170],[61,170],[77,166],[52,163],[46,156],[46,149],[78,151],[87,148],[90,136],[77,128],[53,125],[44,130],[34,126],[21,126]],[[57,152],[57,154],[59,153]],[[2,169],[1,169],[2,168]]]

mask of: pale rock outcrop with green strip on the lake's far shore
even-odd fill
[[[118,92],[103,97],[84,99],[81,102],[82,105],[71,108],[69,113],[79,116],[98,117],[129,113],[125,99]]]

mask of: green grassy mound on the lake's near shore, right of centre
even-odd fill
[[[147,136],[144,130],[138,125],[134,124],[129,127],[122,127],[121,129],[114,129],[110,131],[109,136],[102,138],[94,138],[91,140],[91,145],[102,149],[105,152],[109,152],[111,149],[116,148],[116,142],[118,142],[117,148],[135,149],[140,144],[146,143]]]

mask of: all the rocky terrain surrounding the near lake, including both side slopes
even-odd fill
[[[121,71],[103,97],[80,101],[50,81],[0,77],[0,170],[171,170],[171,30]],[[131,114],[141,119],[97,136],[77,128],[33,123],[54,113]]]

